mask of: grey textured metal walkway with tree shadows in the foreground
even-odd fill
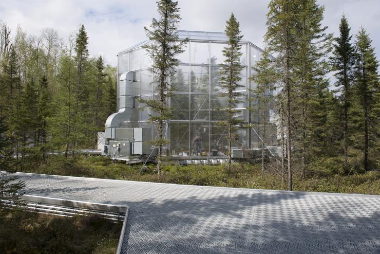
[[[18,175],[26,194],[129,206],[123,253],[380,253],[380,196]]]

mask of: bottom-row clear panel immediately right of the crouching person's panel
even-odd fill
[[[227,130],[224,126],[211,123],[210,156],[225,156],[227,152]]]

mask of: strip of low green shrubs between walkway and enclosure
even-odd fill
[[[52,156],[45,164],[25,166],[19,171],[53,175],[83,176],[107,179],[134,180],[142,182],[171,183],[185,185],[220,186],[253,189],[286,190],[277,174],[262,174],[260,165],[236,164],[228,172],[224,165],[179,166],[165,164],[162,174],[148,165],[148,173],[140,174],[141,165],[128,166],[122,162],[112,162],[107,157],[65,158]],[[302,180],[295,175],[293,190],[339,193],[380,194],[380,172],[353,173],[350,175],[309,172]]]

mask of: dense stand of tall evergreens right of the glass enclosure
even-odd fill
[[[379,168],[379,76],[372,41],[364,27],[353,37],[345,16],[334,37],[321,25],[323,18],[324,7],[315,0],[272,0],[267,48],[253,67],[261,101],[268,97],[265,91],[278,91],[272,99],[281,126],[280,168],[290,190],[294,174]]]

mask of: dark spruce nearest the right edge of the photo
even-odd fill
[[[379,76],[377,72],[378,61],[375,57],[372,40],[364,27],[356,35],[356,80],[355,90],[360,98],[359,105],[364,112],[364,169],[369,170],[368,151],[370,140],[376,143],[378,120],[375,112],[376,93],[379,93]],[[377,97],[378,99],[378,97]],[[371,135],[372,134],[372,135]],[[370,138],[371,137],[371,138]]]

